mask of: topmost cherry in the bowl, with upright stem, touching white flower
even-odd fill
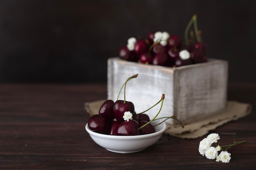
[[[124,121],[124,118],[123,118],[124,113],[126,111],[130,111],[130,113],[133,114],[135,111],[135,108],[134,108],[134,104],[132,102],[126,101],[124,103],[124,100],[117,100],[114,103],[113,111],[114,111],[114,115],[115,115],[115,118],[117,119],[117,121]]]

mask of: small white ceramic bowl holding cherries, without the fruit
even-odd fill
[[[152,124],[157,124],[159,121],[153,121]],[[104,135],[93,132],[89,129],[88,124],[85,126],[90,137],[101,147],[106,148],[111,152],[117,153],[132,153],[139,152],[155,144],[166,130],[166,124],[162,123],[155,127],[156,132],[146,135],[135,136],[117,136]]]

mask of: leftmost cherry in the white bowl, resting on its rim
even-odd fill
[[[106,133],[109,127],[109,120],[101,115],[92,115],[88,120],[90,130],[98,133]]]

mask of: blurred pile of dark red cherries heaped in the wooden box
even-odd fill
[[[192,24],[194,29],[189,31]],[[119,49],[119,57],[127,61],[167,67],[207,62],[205,45],[202,43],[201,31],[198,30],[196,15],[193,15],[185,29],[184,40],[179,35],[162,32],[167,39],[161,43],[156,39],[159,33],[161,32],[151,32],[146,39],[132,38],[134,42],[132,47],[128,39],[128,44]],[[181,53],[185,53],[186,56],[183,57]]]

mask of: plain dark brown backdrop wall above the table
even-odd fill
[[[131,36],[183,36],[198,14],[208,57],[229,82],[256,81],[254,0],[1,0],[0,82],[106,82],[107,59]]]

